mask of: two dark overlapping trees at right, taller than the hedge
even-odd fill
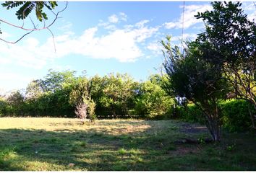
[[[211,4],[212,11],[195,16],[205,22],[205,31],[194,42],[187,42],[183,51],[177,46],[171,47],[169,36],[166,43],[161,43],[166,57],[163,66],[169,81],[166,88],[193,102],[204,115],[213,140],[219,141],[221,117],[229,127],[236,126],[226,112],[221,112],[220,102],[225,93],[234,92],[254,105],[255,109],[248,106],[247,112],[255,128],[256,25],[247,19],[240,2]]]

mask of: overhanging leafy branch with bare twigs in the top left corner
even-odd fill
[[[66,8],[67,8],[67,4],[64,7],[64,9],[61,9],[61,11],[59,12],[54,12],[53,10],[55,9],[56,6],[58,6],[58,4],[56,3],[56,1],[5,1],[4,3],[1,4],[1,6],[7,8],[7,9],[13,9],[16,7],[20,7],[17,12],[16,12],[16,16],[18,19],[26,19],[29,14],[33,11],[35,11],[35,16],[36,19],[38,19],[40,22],[43,22],[43,27],[37,27],[37,25],[35,25],[35,22],[33,22],[33,20],[30,18],[30,21],[33,25],[33,27],[31,28],[27,28],[24,26],[24,22],[23,25],[18,26],[18,25],[14,25],[10,22],[7,22],[4,19],[0,19],[0,22],[9,25],[11,27],[16,27],[20,30],[25,30],[27,31],[27,33],[25,33],[25,35],[22,35],[20,38],[18,38],[16,41],[8,41],[8,40],[4,40],[3,38],[0,38],[0,40],[6,42],[6,43],[17,43],[20,40],[22,40],[23,37],[25,37],[26,35],[29,35],[31,32],[33,31],[39,31],[39,30],[48,30],[49,32],[51,32],[50,27],[51,25],[54,25],[54,22],[56,22],[56,19],[59,18],[59,14],[61,12],[63,12]],[[48,16],[46,14],[45,11],[43,11],[44,7],[46,7],[46,9],[50,10],[52,12],[52,14],[54,14],[54,19],[51,21],[50,24],[46,25],[45,20],[48,19]],[[1,29],[0,29],[0,34],[1,34]],[[53,33],[51,32],[51,35],[54,37]]]

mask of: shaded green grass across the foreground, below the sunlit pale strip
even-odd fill
[[[120,124],[124,123],[127,122]],[[184,128],[184,125],[182,127]],[[189,129],[192,129],[191,127]],[[233,151],[226,148],[226,145],[231,146],[234,143],[230,141],[231,138],[224,139],[221,144],[174,144],[177,138],[187,135],[198,137],[206,134],[203,130],[197,134],[195,130],[192,130],[191,134],[189,131],[184,133],[176,125],[166,130],[153,130],[151,127],[143,132],[116,135],[99,132],[95,128],[72,131],[0,130],[0,170],[256,169],[255,147],[244,148],[244,144],[252,145],[251,134],[243,138],[231,136],[240,138],[240,141],[236,141]],[[239,151],[240,148],[244,148],[244,151]]]

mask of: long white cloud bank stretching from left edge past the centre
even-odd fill
[[[39,43],[35,37],[27,37],[15,45],[0,43],[0,63],[15,64],[29,68],[41,69],[55,58],[62,58],[70,54],[85,56],[86,58],[108,59],[115,58],[120,62],[133,62],[144,54],[140,44],[155,35],[159,27],[148,27],[148,21],[141,21],[129,28],[109,30],[99,35],[102,27],[91,27],[82,35],[75,36],[72,32],[55,37],[49,37],[46,43]]]

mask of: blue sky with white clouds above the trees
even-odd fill
[[[254,4],[243,4],[249,18],[255,18]],[[59,2],[55,12],[64,6],[65,2]],[[159,73],[163,62],[159,41],[171,35],[173,44],[180,45],[182,7],[183,1],[70,1],[50,27],[56,52],[48,30],[33,32],[15,45],[0,41],[0,92],[25,88],[31,80],[46,76],[50,68],[74,70],[77,74],[86,70],[88,76],[128,73],[138,81],[145,80]],[[185,2],[184,39],[194,40],[202,32],[203,23],[193,16],[209,9],[210,2]],[[1,19],[22,25],[14,12],[1,10]],[[46,25],[54,16],[48,18]],[[34,21],[38,27],[43,26]],[[30,19],[25,20],[24,27],[33,27]],[[0,28],[0,37],[10,41],[26,33],[3,22]]]

